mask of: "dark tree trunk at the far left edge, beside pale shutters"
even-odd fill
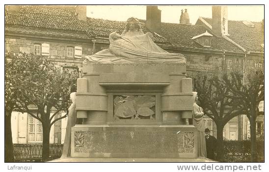
[[[11,131],[11,113],[5,112],[5,162],[14,162],[12,131]]]

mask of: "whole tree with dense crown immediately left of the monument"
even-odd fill
[[[12,64],[17,74],[12,77],[22,80],[15,100],[16,110],[26,112],[42,123],[42,160],[49,158],[49,141],[52,125],[67,116],[55,118],[60,111],[67,111],[71,87],[76,86],[78,73],[58,73],[54,63],[43,56],[20,54]],[[11,76],[10,76],[11,77]],[[32,111],[29,106],[34,107]],[[52,109],[55,109],[53,115]]]

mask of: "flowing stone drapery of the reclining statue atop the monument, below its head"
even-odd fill
[[[148,33],[114,39],[115,34],[109,35],[109,49],[86,56],[83,63],[186,63],[182,54],[161,49]]]

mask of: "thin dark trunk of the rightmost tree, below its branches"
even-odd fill
[[[257,162],[257,143],[256,143],[256,111],[255,107],[251,110],[250,120],[250,139],[251,139],[251,162]]]

